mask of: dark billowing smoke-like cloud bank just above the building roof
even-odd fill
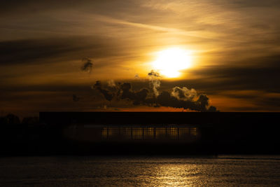
[[[141,88],[139,91],[132,90],[131,83],[121,83],[119,90],[117,89],[115,92],[109,92],[108,89],[103,88],[100,81],[97,81],[94,88],[99,90],[109,101],[113,97],[119,97],[119,99],[130,100],[134,105],[143,104],[154,107],[170,106],[193,111],[217,111],[216,107],[209,106],[207,95],[197,95],[194,89],[188,90],[186,87],[175,87],[172,92],[163,91],[156,97],[149,97],[147,88]],[[177,95],[176,93],[179,94]]]

